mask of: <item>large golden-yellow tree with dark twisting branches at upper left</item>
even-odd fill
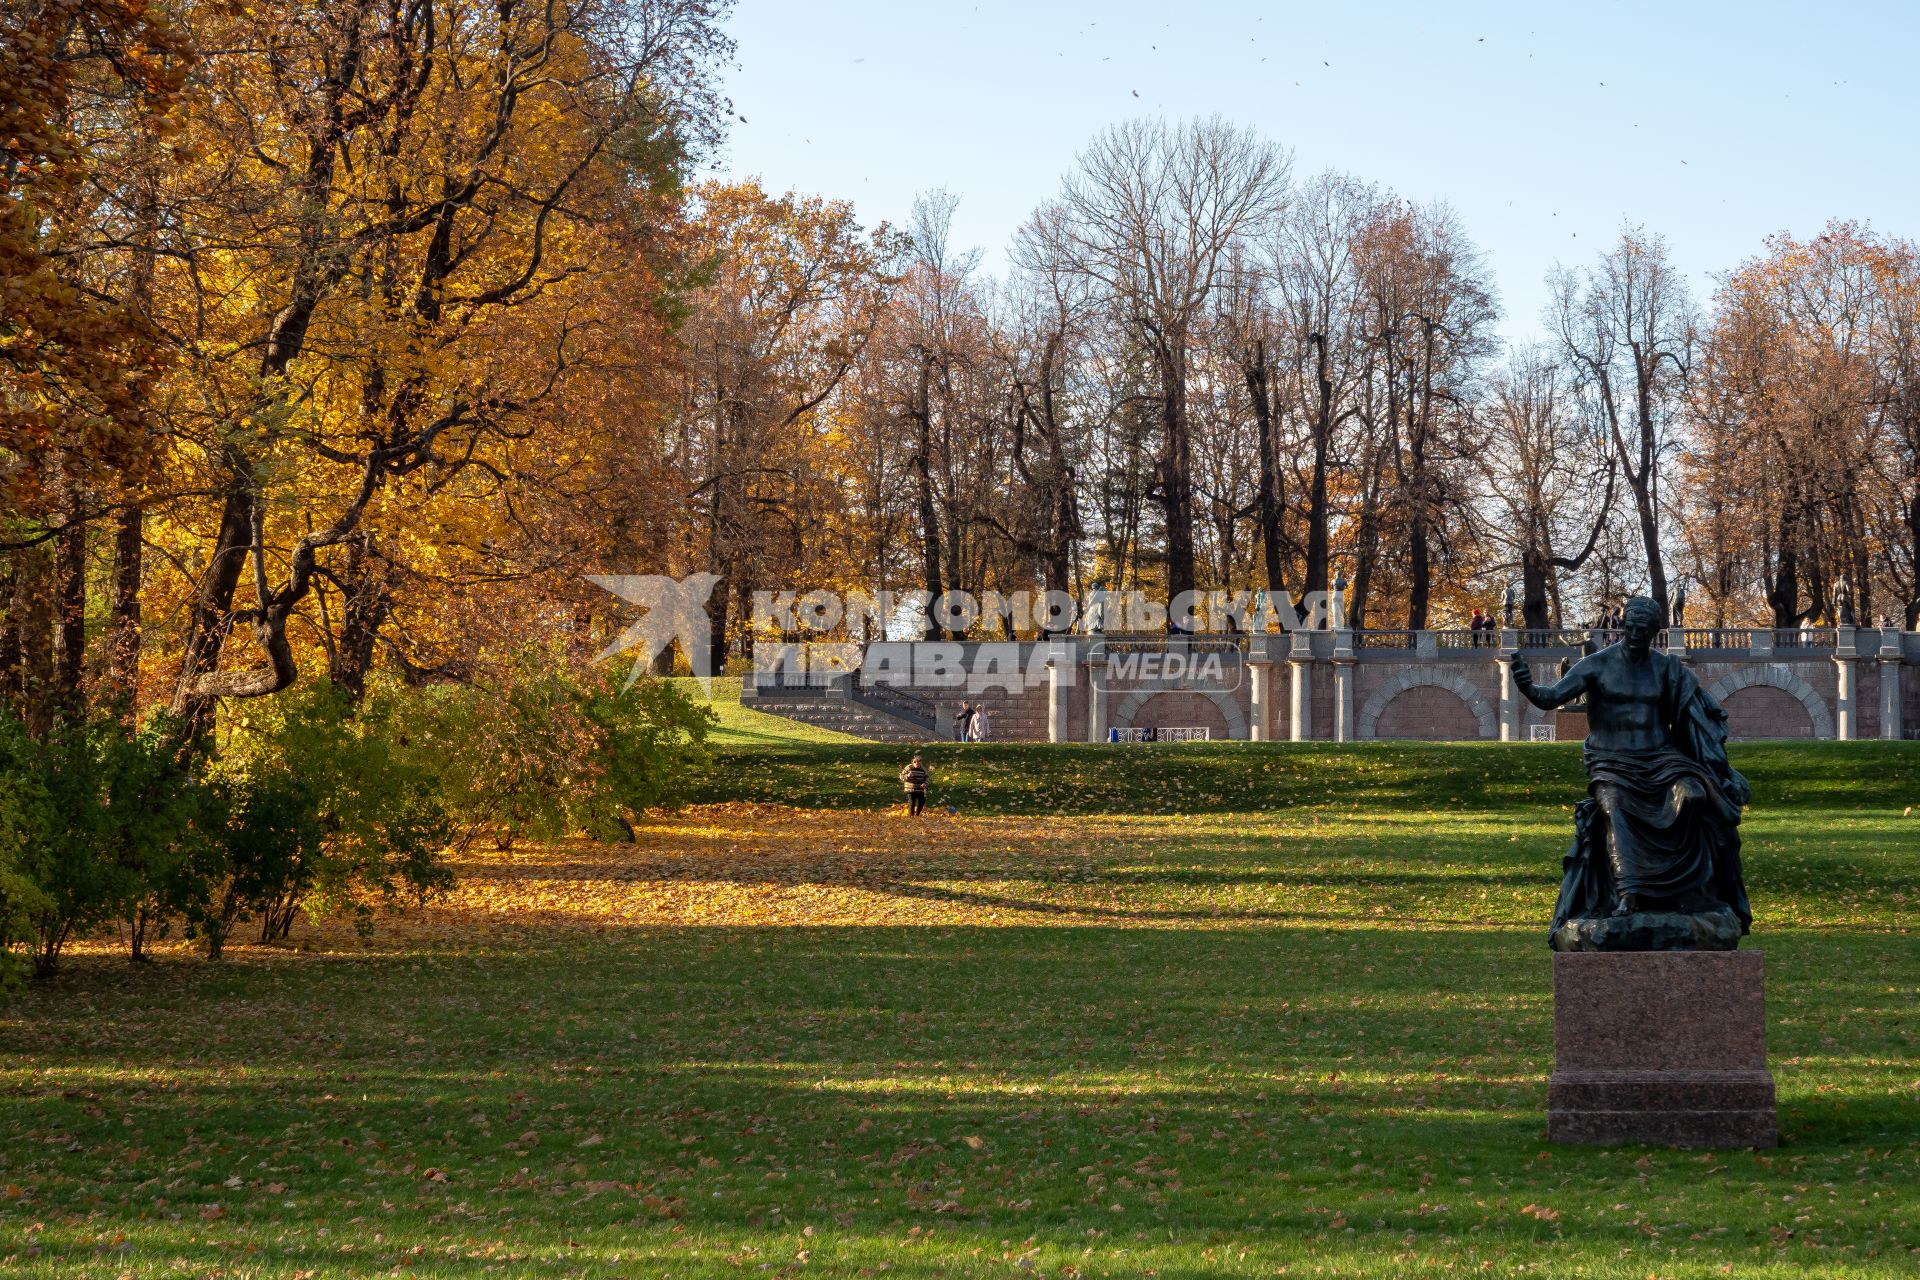
[[[678,180],[714,113],[722,12],[194,12],[221,56],[196,73],[194,163],[171,175],[161,303],[192,365],[182,472],[219,495],[175,549],[204,566],[171,695],[190,723],[292,683],[288,624],[315,581],[380,591],[369,510],[486,472],[568,380],[566,297],[591,273],[574,249],[609,201]],[[365,629],[384,610],[342,616]]]

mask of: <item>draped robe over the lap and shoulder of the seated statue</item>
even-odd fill
[[[1605,750],[1588,741],[1588,794],[1574,808],[1572,848],[1553,929],[1611,915],[1622,892],[1653,910],[1726,908],[1753,923],[1740,871],[1740,800],[1747,785],[1726,760],[1726,712],[1686,664],[1655,652],[1668,747]],[[1620,858],[1615,875],[1607,842]]]

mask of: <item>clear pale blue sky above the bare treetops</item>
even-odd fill
[[[722,173],[866,223],[945,186],[993,273],[1104,125],[1215,111],[1300,177],[1452,203],[1517,340],[1546,271],[1622,221],[1668,238],[1701,301],[1776,230],[1920,236],[1916,0],[739,0],[732,31]]]

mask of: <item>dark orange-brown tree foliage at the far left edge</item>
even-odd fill
[[[190,63],[144,4],[0,17],[0,683],[36,729],[84,706],[88,526],[113,516],[113,677],[138,662],[142,480],[167,347],[152,294],[152,157]]]

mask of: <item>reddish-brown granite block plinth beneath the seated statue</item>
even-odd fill
[[[1557,952],[1548,1138],[1778,1146],[1761,952]]]

